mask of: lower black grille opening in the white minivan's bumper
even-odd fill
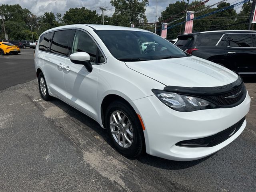
[[[216,146],[228,138],[232,137],[242,126],[243,122],[245,120],[245,117],[242,118],[240,121],[238,121],[236,124],[231,126],[230,128],[227,128],[223,130],[222,132],[219,132],[215,135],[199,138],[199,139],[192,139],[192,140],[185,140],[176,143],[176,146],[182,146],[182,147],[213,147]]]

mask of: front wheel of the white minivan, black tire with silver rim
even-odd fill
[[[112,145],[122,155],[132,158],[142,152],[142,126],[130,105],[112,102],[106,109],[105,125]]]

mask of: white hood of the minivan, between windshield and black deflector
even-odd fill
[[[126,66],[166,86],[214,87],[238,78],[227,68],[195,56],[126,62]]]

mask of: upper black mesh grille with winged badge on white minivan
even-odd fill
[[[240,92],[241,91],[241,92]],[[240,92],[240,94],[235,98],[225,98],[229,96],[236,95]],[[230,92],[218,94],[218,95],[212,95],[212,96],[204,96],[203,98],[218,105],[221,107],[230,106],[233,104],[238,104],[238,102],[242,102],[246,96],[246,88],[244,84],[242,83],[240,86],[238,86],[236,89],[231,90]],[[239,103],[240,104],[240,103]]]

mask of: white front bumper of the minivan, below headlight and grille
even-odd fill
[[[130,102],[142,117],[146,152],[169,160],[190,161],[217,152],[235,140],[244,130],[246,120],[230,138],[212,147],[181,147],[178,142],[217,134],[236,124],[249,111],[250,96],[233,108],[178,112],[164,105],[156,96]]]

